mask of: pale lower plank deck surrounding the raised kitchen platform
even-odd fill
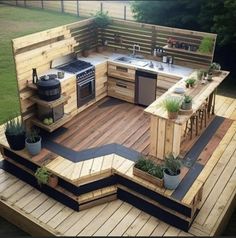
[[[122,105],[118,105],[120,106]],[[236,120],[236,100],[217,96],[216,112],[220,116]],[[61,139],[67,139],[70,143],[69,138]],[[120,200],[75,212],[3,170],[0,170],[1,215],[21,229],[40,235],[215,235],[221,231],[235,206],[236,121],[212,153],[208,163],[211,165],[208,166],[209,171],[200,174],[209,174],[204,185],[201,209],[188,233]]]

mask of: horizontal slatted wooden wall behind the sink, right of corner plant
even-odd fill
[[[122,43],[115,41],[115,34],[120,35]],[[113,24],[105,30],[103,35],[100,32],[99,40],[104,38],[108,41],[109,47],[126,51],[132,51],[133,44],[139,44],[141,46],[140,53],[151,55],[154,48],[165,47],[169,37],[199,46],[205,36],[212,37],[213,41],[216,41],[216,34],[114,19]],[[212,62],[214,48],[210,54],[172,48],[165,50],[174,56],[175,63],[179,65],[204,68]]]

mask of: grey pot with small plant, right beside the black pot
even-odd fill
[[[42,138],[39,131],[32,129],[26,133],[25,147],[31,155],[37,155],[41,151]]]

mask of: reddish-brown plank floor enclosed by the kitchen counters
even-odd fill
[[[150,118],[143,110],[140,106],[106,98],[65,124],[68,131],[56,141],[76,151],[117,143],[145,152],[150,144]]]

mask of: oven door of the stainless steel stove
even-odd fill
[[[95,98],[95,79],[89,78],[82,82],[77,82],[77,105],[81,107]]]

